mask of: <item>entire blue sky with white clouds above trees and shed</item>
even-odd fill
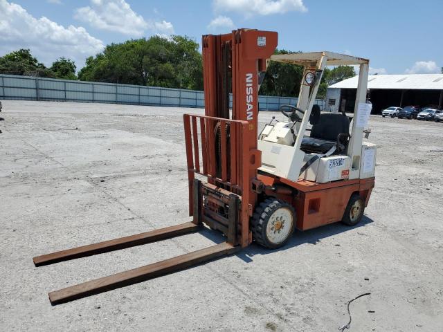
[[[367,57],[372,73],[439,73],[443,1],[395,0],[0,0],[0,55],[30,48],[40,61],[84,65],[112,42],[154,34],[258,28],[287,50]]]

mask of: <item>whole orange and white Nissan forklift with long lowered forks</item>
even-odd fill
[[[34,257],[35,266],[87,257],[197,232],[205,225],[226,241],[185,255],[49,293],[61,304],[232,255],[255,242],[275,249],[295,230],[361,221],[374,187],[376,146],[363,142],[368,59],[331,52],[273,55],[275,32],[204,35],[205,115],[183,116],[192,220]],[[284,105],[258,133],[258,91],[270,61],[303,66],[297,105]],[[357,65],[352,120],[315,104],[325,66]],[[232,112],[230,112],[232,93]],[[307,136],[309,132],[309,136]]]

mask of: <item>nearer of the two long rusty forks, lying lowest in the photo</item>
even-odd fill
[[[63,288],[59,291],[53,291],[49,293],[49,300],[52,305],[61,304],[74,299],[80,299],[89,295],[95,295],[123,286],[136,284],[162,275],[168,275],[169,273],[183,270],[190,266],[195,266],[215,257],[233,254],[240,248],[240,246],[232,246],[227,242],[219,243],[215,246],[165,259],[164,261],[158,261],[154,264],[91,280],[90,282],[84,282],[83,284]]]

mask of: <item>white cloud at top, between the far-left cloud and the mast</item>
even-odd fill
[[[145,21],[125,0],[91,0],[91,6],[77,8],[74,17],[93,28],[134,37],[143,36],[145,30],[166,35],[174,33],[170,22]]]

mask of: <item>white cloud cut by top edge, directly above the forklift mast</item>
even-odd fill
[[[218,12],[239,12],[245,17],[307,11],[303,0],[214,0],[213,3]]]

